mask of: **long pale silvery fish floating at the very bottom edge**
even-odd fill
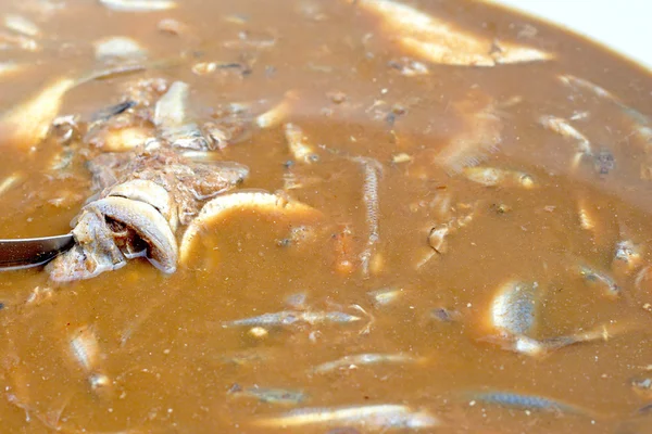
[[[418,430],[440,425],[426,410],[414,411],[400,405],[372,405],[335,408],[302,408],[253,421],[263,427],[300,427],[310,425],[355,425],[368,431]]]

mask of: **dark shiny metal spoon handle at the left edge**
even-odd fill
[[[0,240],[0,271],[43,265],[75,244],[73,234]]]

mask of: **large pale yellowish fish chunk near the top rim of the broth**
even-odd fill
[[[383,28],[404,49],[432,63],[490,67],[554,58],[535,48],[473,35],[399,1],[359,0],[356,4],[376,14]]]

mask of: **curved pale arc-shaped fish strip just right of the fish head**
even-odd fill
[[[256,209],[265,213],[280,213],[287,215],[318,216],[315,208],[296,201],[288,201],[276,194],[263,192],[238,192],[217,196],[204,204],[199,215],[186,229],[181,239],[179,252],[180,264],[186,265],[190,258],[190,251],[196,238],[204,228],[215,225],[228,214],[239,209]]]

